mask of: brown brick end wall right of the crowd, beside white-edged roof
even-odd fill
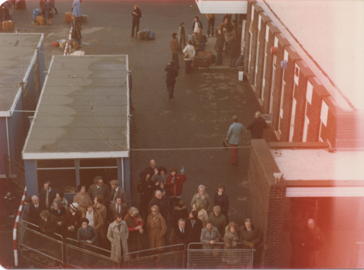
[[[253,223],[262,231],[264,243],[269,243],[261,256],[264,268],[280,267],[286,187],[284,183],[274,183],[274,172],[279,172],[279,169],[265,140],[252,139],[248,170],[249,201]]]

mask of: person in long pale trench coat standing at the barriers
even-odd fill
[[[110,223],[107,230],[107,239],[111,242],[111,258],[120,261],[122,258],[121,248],[123,249],[123,254],[128,252],[128,237],[129,230],[126,222],[122,220],[121,215],[117,215],[114,222]],[[124,260],[128,260],[129,256],[126,255]]]

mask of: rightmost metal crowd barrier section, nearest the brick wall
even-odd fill
[[[188,245],[188,269],[252,269],[253,249],[224,249],[224,243],[216,243],[215,249],[202,249],[202,243]]]

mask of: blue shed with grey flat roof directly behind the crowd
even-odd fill
[[[130,192],[128,89],[127,55],[52,57],[22,152],[31,194],[50,179],[74,193],[97,175]]]

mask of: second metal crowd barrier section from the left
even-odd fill
[[[68,268],[120,268],[120,256],[108,250],[66,238],[66,265]],[[118,259],[112,259],[111,254]]]

